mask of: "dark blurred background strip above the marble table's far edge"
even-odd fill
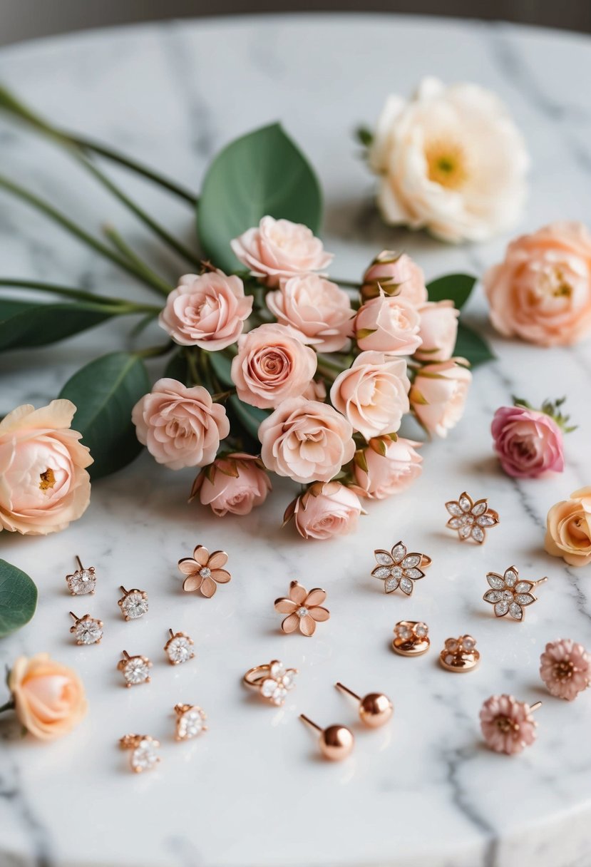
[[[464,16],[591,32],[591,0],[0,0],[0,44],[159,18],[312,10]]]

